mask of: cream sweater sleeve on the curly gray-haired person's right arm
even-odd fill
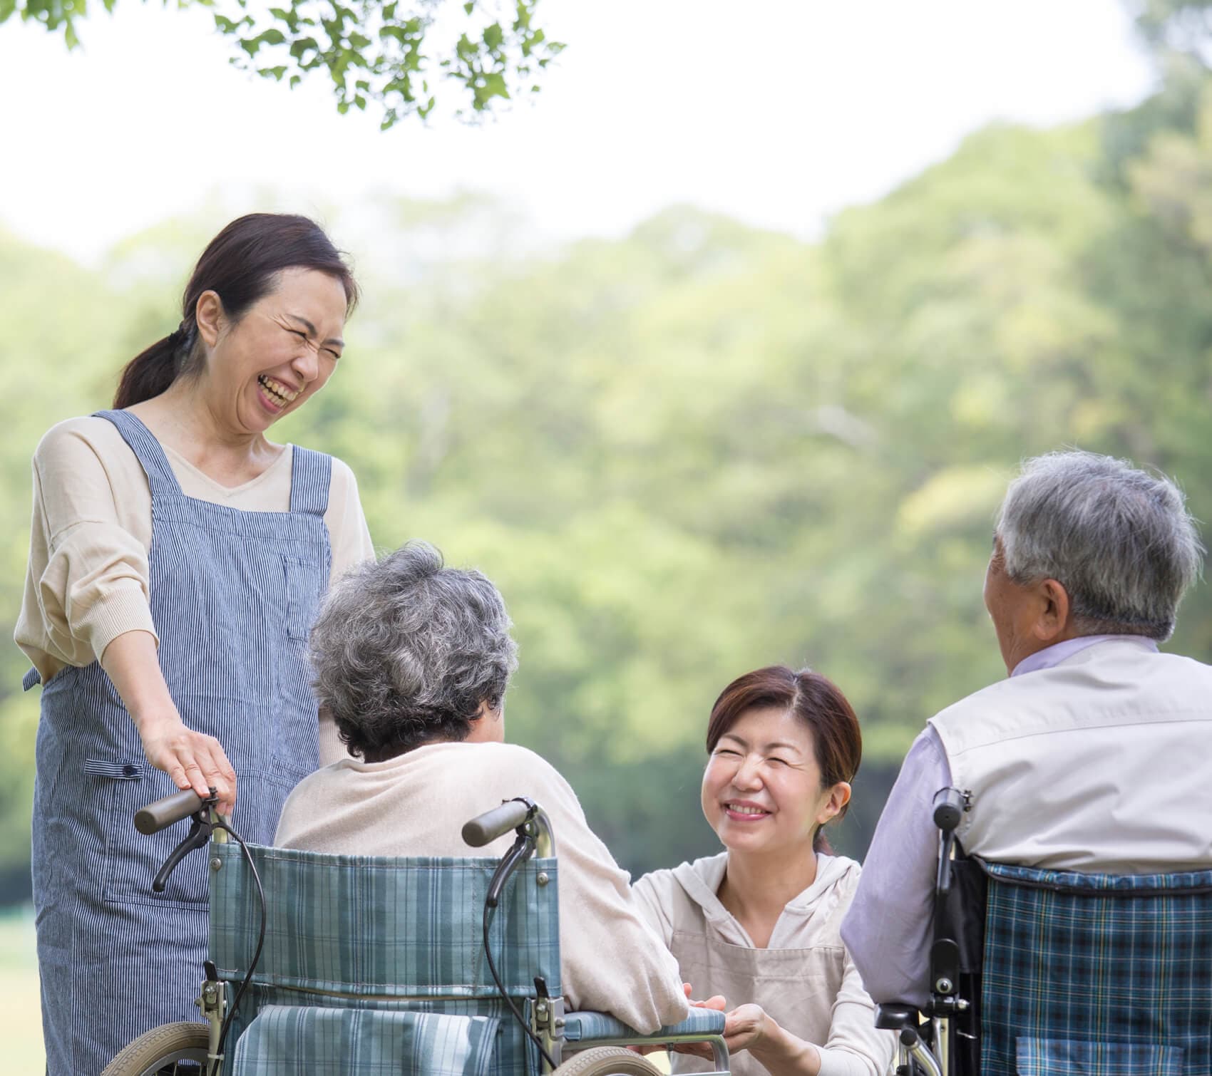
[[[567,782],[534,757],[536,799],[555,831],[564,989],[573,1008],[612,1013],[644,1034],[686,1019],[678,962],[645,922],[627,871],[589,829]]]

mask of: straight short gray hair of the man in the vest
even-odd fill
[[[1006,573],[1056,579],[1081,635],[1168,639],[1204,546],[1162,474],[1093,452],[1027,460],[997,514]]]

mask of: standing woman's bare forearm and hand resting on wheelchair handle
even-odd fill
[[[219,812],[230,814],[235,771],[215,737],[194,732],[181,720],[160,671],[155,639],[147,631],[119,635],[105,647],[101,666],[135,721],[148,762],[177,788],[193,789],[202,799],[216,789]]]

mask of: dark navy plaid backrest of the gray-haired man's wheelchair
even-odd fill
[[[984,866],[982,1076],[1212,1071],[1212,871]]]

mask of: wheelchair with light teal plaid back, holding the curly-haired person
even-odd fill
[[[708,1043],[711,1076],[727,1076],[720,1012],[641,1035],[565,1011],[555,837],[533,801],[463,826],[471,847],[513,830],[499,862],[248,845],[216,802],[178,792],[135,823],[191,818],[155,892],[185,855],[210,857],[204,1021],[148,1031],[102,1076],[646,1076],[659,1070],[628,1047],[684,1043]]]

